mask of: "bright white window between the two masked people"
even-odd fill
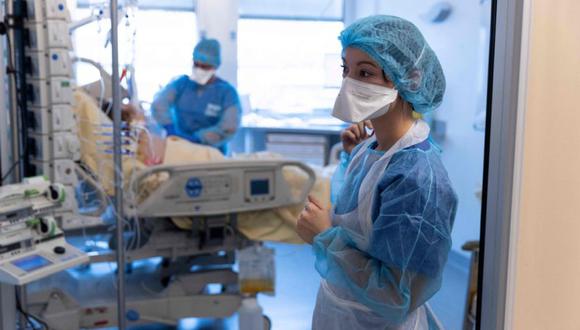
[[[282,114],[329,109],[341,81],[340,21],[240,19],[238,89]]]

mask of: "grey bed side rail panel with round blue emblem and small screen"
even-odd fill
[[[284,171],[296,169],[308,180],[299,189],[291,189]],[[168,179],[138,205],[130,206],[138,215],[204,216],[284,207],[303,202],[315,180],[312,169],[300,162],[232,160],[151,167],[132,182],[133,193],[138,195],[143,183],[162,172]]]

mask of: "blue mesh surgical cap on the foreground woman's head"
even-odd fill
[[[370,16],[355,21],[339,39],[343,51],[354,47],[373,58],[416,112],[427,113],[441,105],[443,69],[413,23],[395,16]]]

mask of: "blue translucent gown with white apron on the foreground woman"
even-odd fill
[[[314,329],[431,327],[423,306],[441,286],[457,196],[429,140],[391,155],[372,140],[343,157],[333,227],[314,238]]]

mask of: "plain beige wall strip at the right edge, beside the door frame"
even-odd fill
[[[531,13],[515,303],[506,329],[579,329],[580,2],[534,0]]]

